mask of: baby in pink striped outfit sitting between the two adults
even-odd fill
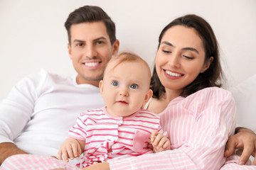
[[[142,109],[152,96],[150,78],[149,66],[139,56],[123,52],[112,58],[99,84],[105,107],[80,113],[58,158],[68,162],[83,153],[82,168],[171,149],[159,117]],[[150,141],[156,144],[152,149]]]

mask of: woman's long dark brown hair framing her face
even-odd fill
[[[210,86],[222,86],[224,75],[220,66],[218,42],[215,38],[215,34],[213,33],[213,29],[210,27],[210,24],[200,16],[196,15],[186,15],[176,18],[174,21],[169,23],[164,30],[161,31],[161,34],[159,35],[158,49],[164,33],[166,33],[166,30],[173,26],[194,28],[203,41],[203,47],[206,52],[206,61],[209,60],[210,57],[213,57],[213,62],[211,62],[210,67],[205,72],[198,74],[198,77],[183,89],[180,96],[186,97],[195,93],[196,91]],[[163,94],[166,92],[156,73],[156,66],[154,67],[151,77],[150,89],[153,91],[153,97],[158,99],[161,98],[161,96],[163,96]]]

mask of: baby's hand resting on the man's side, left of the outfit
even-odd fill
[[[63,142],[63,145],[58,151],[58,159],[64,159],[65,162],[68,162],[69,158],[73,160],[75,157],[80,157],[80,154],[82,154],[82,150],[78,140],[75,140],[72,137],[68,137],[68,139]]]

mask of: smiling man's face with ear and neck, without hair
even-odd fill
[[[111,44],[104,23],[73,24],[68,52],[78,72],[77,83],[98,86],[107,62],[117,54],[118,47],[118,40]]]

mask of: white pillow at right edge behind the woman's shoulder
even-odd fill
[[[238,108],[238,126],[256,131],[256,74],[230,91]]]

